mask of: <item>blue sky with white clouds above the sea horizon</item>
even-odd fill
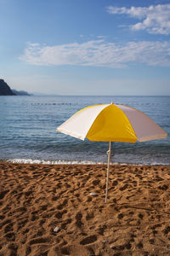
[[[0,0],[0,79],[72,96],[170,96],[170,0]]]

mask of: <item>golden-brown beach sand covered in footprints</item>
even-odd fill
[[[0,256],[170,255],[170,166],[105,173],[0,162]]]

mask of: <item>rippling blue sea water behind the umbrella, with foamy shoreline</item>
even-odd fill
[[[0,160],[106,163],[108,143],[84,142],[56,128],[89,105],[138,108],[168,133],[146,143],[112,143],[111,163],[170,165],[170,96],[0,96]]]

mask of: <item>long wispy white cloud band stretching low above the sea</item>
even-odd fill
[[[129,64],[170,67],[169,42],[129,42],[124,45],[105,40],[82,44],[42,46],[28,44],[20,60],[40,66],[127,67]]]

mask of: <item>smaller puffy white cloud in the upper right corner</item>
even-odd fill
[[[170,34],[170,4],[150,5],[150,7],[126,7],[117,8],[109,6],[107,11],[110,14],[129,15],[130,17],[142,20],[133,26],[132,30],[146,30],[151,34]]]

